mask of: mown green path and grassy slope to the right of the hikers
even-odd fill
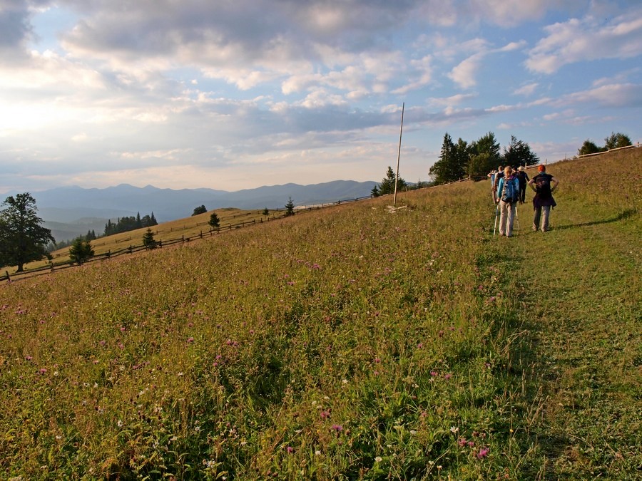
[[[642,468],[641,154],[551,167],[554,229],[518,238],[521,354],[541,408],[534,477],[635,479]]]

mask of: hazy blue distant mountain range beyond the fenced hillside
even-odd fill
[[[338,200],[367,197],[379,182],[335,180],[314,185],[270,185],[256,189],[226,192],[213,189],[159,189],[148,185],[133,187],[128,184],[106,189],[58,187],[31,192],[36,199],[38,214],[51,229],[56,241],[73,239],[93,230],[104,232],[108,219],[151,214],[158,222],[190,217],[195,207],[205,205],[207,210],[223,207],[239,209],[282,209],[292,198],[295,206],[316,205]]]

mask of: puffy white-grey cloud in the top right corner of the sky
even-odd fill
[[[526,68],[551,74],[570,63],[634,58],[642,52],[642,9],[614,19],[586,16],[544,28],[548,36],[529,51]]]

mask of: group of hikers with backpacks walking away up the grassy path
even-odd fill
[[[529,175],[520,166],[517,169],[501,165],[497,170],[488,174],[491,180],[491,194],[493,202],[497,205],[495,212],[495,226],[499,212],[499,235],[511,237],[513,235],[513,222],[517,215],[517,204],[524,204],[526,200],[526,186],[529,185],[535,196],[533,197],[533,230],[541,232],[549,230],[549,215],[551,208],[556,206],[553,191],[559,181],[546,173],[546,165],[537,167],[537,175],[529,179]],[[494,232],[493,232],[494,235]]]

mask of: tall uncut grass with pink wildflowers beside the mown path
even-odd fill
[[[513,276],[526,212],[514,239],[493,239],[486,184],[3,286],[1,477],[543,475],[528,287]],[[560,188],[560,205],[593,195]]]

